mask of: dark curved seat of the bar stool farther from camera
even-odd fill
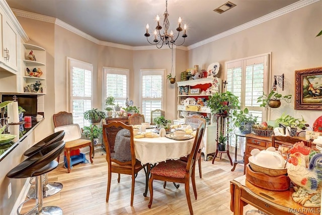
[[[24,153],[24,156],[30,157],[31,155],[33,155],[36,152],[38,152],[39,150],[41,150],[41,148],[46,147],[46,146],[52,144],[53,142],[57,142],[57,141],[62,140],[64,138],[64,135],[65,135],[65,131],[61,130],[61,131],[57,131],[57,132],[45,137],[44,139],[37,142],[37,144],[30,147]]]

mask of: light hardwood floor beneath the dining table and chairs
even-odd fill
[[[130,206],[131,176],[121,175],[117,183],[117,174],[112,175],[110,200],[106,202],[107,163],[101,150],[97,148],[94,163],[78,164],[70,173],[63,168],[63,163],[49,173],[49,181],[63,184],[63,189],[56,195],[44,198],[44,206],[59,206],[63,214],[189,214],[183,184],[176,189],[172,183],[163,188],[162,181],[153,181],[153,202],[147,207],[149,192],[143,196],[145,188],[144,171],[140,171],[135,180],[134,203]],[[104,152],[104,151],[103,151]],[[88,158],[88,154],[86,155]],[[63,161],[63,158],[60,159]],[[196,187],[198,198],[195,200],[192,186],[190,196],[194,214],[232,214],[229,209],[229,181],[243,175],[244,166],[238,164],[235,171],[227,160],[216,158],[215,163],[202,161],[202,178],[199,178],[196,165]],[[21,212],[26,212],[35,205],[35,200],[26,203]],[[244,211],[253,209],[247,205]],[[245,212],[244,212],[245,214]]]

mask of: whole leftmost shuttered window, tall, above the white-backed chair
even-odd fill
[[[69,74],[69,110],[73,123],[80,127],[89,125],[84,119],[84,112],[92,108],[92,73],[93,65],[67,57]],[[67,103],[67,104],[68,104]]]

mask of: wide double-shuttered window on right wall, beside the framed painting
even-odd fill
[[[257,98],[268,91],[270,56],[266,53],[225,62],[227,91],[238,96],[240,109],[247,107],[253,116],[258,116],[257,122],[267,119],[267,113],[257,103]],[[232,136],[230,146],[234,145],[235,138]]]

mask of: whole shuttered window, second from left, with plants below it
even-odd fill
[[[105,99],[113,96],[115,104],[125,107],[129,94],[129,69],[103,67],[103,109]]]

